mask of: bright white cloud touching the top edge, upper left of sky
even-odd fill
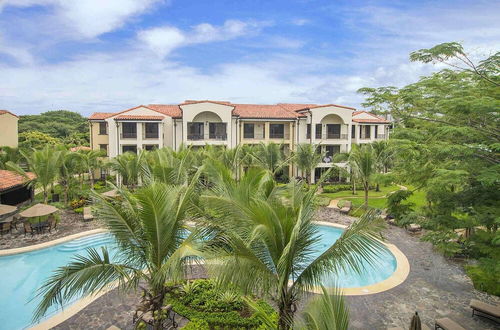
[[[162,0],[6,0],[5,6],[50,6],[54,19],[75,37],[94,38],[123,26]]]

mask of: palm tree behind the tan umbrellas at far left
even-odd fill
[[[41,150],[32,149],[31,152],[19,151],[26,160],[28,171],[36,175],[35,185],[40,186],[43,191],[43,202],[48,202],[49,186],[52,186],[59,177],[59,168],[61,166],[62,152],[55,150],[52,146],[45,146]],[[7,168],[13,170],[24,177],[28,175],[19,165],[8,161]]]

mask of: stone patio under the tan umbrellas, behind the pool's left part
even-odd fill
[[[82,231],[102,227],[97,220],[83,221],[83,215],[73,211],[60,210],[59,212],[61,220],[58,222],[56,229],[52,230],[51,233],[46,230],[43,234],[36,234],[33,236],[31,236],[31,234],[26,234],[25,236],[23,225],[19,223],[17,229],[12,229],[11,233],[0,236],[0,250],[40,244]]]

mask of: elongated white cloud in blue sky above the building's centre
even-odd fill
[[[181,31],[172,26],[155,27],[139,31],[137,38],[151,48],[158,56],[165,57],[172,50],[188,45],[226,41],[242,36],[254,35],[269,22],[243,22],[227,20],[221,26],[202,23],[190,31]]]

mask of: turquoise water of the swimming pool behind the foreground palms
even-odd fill
[[[319,226],[321,241],[317,255],[321,254],[342,234],[342,229]],[[110,234],[96,234],[49,248],[0,257],[0,329],[17,330],[31,325],[31,317],[39,300],[33,299],[39,288],[53,270],[67,264],[76,254],[84,254],[90,247],[107,246],[111,256],[116,251],[116,243]],[[375,266],[366,265],[362,274],[346,271],[337,276],[326,276],[325,286],[337,283],[340,287],[351,288],[374,284],[388,278],[396,269],[392,253],[385,251]],[[31,301],[30,301],[31,300]],[[57,310],[50,310],[51,316]]]

